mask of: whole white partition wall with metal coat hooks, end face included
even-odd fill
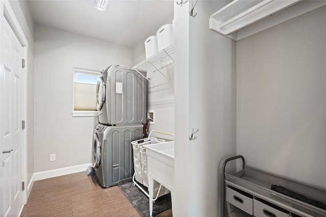
[[[209,30],[227,1],[175,5],[176,215],[221,216],[222,158],[236,152],[235,42]],[[189,40],[189,41],[188,41]],[[188,137],[199,128],[196,140]]]

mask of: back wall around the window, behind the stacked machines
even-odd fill
[[[98,119],[72,117],[73,68],[131,67],[131,48],[41,25],[34,36],[35,172],[91,163]]]

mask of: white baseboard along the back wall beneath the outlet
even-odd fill
[[[77,165],[77,166],[73,166],[73,167],[65,167],[65,168],[60,168],[60,169],[55,169],[55,170],[47,170],[47,171],[43,171],[43,172],[34,173],[33,177],[34,177],[34,181],[37,181],[37,180],[42,180],[42,179],[46,179],[46,178],[68,175],[71,173],[77,173],[77,172],[83,172],[83,171],[86,172],[86,169],[91,166],[92,166],[92,164],[89,163],[89,164]]]

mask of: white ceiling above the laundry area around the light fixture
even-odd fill
[[[134,47],[172,23],[173,0],[111,0],[106,11],[95,0],[30,0],[34,23]]]

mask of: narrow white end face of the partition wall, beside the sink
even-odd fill
[[[174,2],[174,216],[189,216],[189,3]]]

